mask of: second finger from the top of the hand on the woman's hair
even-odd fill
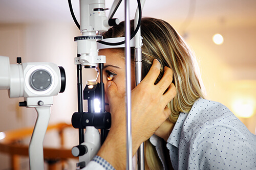
[[[157,83],[157,86],[160,88],[160,92],[162,94],[165,92],[165,90],[172,84],[173,82],[173,70],[169,67],[164,67],[164,74],[161,80]]]

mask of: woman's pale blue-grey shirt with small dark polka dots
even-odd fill
[[[256,169],[256,136],[224,105],[200,98],[167,140],[174,169]]]

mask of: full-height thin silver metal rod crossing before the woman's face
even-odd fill
[[[130,27],[129,0],[125,0],[125,61],[126,61],[126,169],[133,168],[133,145],[132,145],[132,106],[131,106],[131,27]]]

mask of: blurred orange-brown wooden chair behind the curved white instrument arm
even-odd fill
[[[53,170],[59,167],[59,164],[63,165],[63,161],[68,158],[75,158],[71,153],[71,148],[64,147],[64,133],[65,128],[72,127],[66,123],[59,123],[56,125],[49,125],[47,132],[50,130],[57,130],[60,137],[59,148],[46,148],[44,147],[44,158],[48,160],[48,169]],[[20,144],[20,140],[30,137],[32,135],[33,128],[23,128],[17,130],[10,130],[0,132],[5,135],[3,139],[0,139],[0,152],[7,153],[11,156],[11,169],[19,170],[19,157],[28,156],[28,145]]]

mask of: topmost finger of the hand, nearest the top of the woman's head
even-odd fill
[[[157,80],[160,74],[160,67],[161,67],[160,62],[157,59],[154,59],[150,70],[148,71],[147,75],[142,81],[148,82],[148,83],[155,83],[155,81]]]

